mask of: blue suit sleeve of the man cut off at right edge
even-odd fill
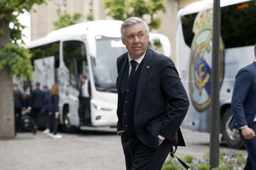
[[[252,76],[250,75],[250,72],[245,69],[240,70],[235,77],[231,107],[235,117],[235,122],[238,123],[237,128],[247,125],[243,103],[248,94],[251,83]]]

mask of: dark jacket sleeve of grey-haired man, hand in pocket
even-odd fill
[[[159,135],[171,140],[186,116],[189,101],[174,62],[169,58],[161,64],[161,89],[169,103],[169,111],[166,112]]]

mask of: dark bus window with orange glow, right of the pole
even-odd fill
[[[255,45],[255,8],[255,1],[221,8],[221,36],[225,48]]]

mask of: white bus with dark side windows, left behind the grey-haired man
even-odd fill
[[[122,21],[90,21],[48,33],[29,45],[36,81],[50,88],[60,86],[60,124],[64,131],[79,127],[79,74],[90,80],[90,113],[85,125],[98,127],[117,125],[117,57],[127,52],[122,44]],[[169,39],[151,33],[151,40],[160,40],[162,50],[171,55]],[[153,45],[150,45],[153,47]]]

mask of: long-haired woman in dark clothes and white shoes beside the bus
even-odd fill
[[[52,89],[50,90],[50,137],[53,139],[60,139],[62,135],[58,135],[58,121],[60,118],[59,113],[59,88],[58,84],[53,84]]]

